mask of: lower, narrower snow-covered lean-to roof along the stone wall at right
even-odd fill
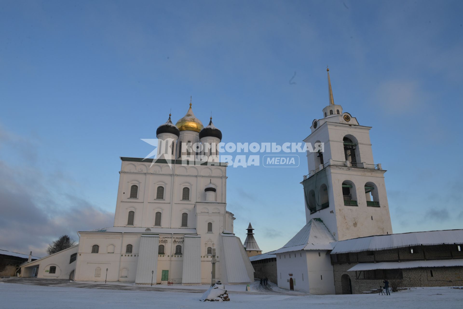
[[[406,261],[406,262],[379,262],[359,263],[348,271],[371,271],[375,269],[404,269],[419,267],[452,267],[463,266],[463,259],[439,259],[428,261]]]

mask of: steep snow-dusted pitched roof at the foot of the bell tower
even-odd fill
[[[299,250],[332,250],[335,241],[323,221],[314,218],[302,227],[286,245],[275,250],[274,253]]]

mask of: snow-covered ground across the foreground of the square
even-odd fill
[[[225,286],[226,288],[228,286]],[[0,282],[0,308],[252,308],[281,309],[372,309],[372,308],[445,308],[461,309],[463,290],[449,287],[414,288],[391,296],[365,295],[264,295],[230,293],[230,302],[199,301],[200,293],[172,291],[102,290],[61,286],[40,286]]]

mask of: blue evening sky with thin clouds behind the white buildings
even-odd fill
[[[224,142],[300,142],[328,104],[370,131],[394,233],[462,228],[461,1],[2,1],[0,247],[113,222],[119,156],[172,109]],[[289,80],[295,84],[290,84]],[[228,169],[264,251],[304,224],[298,168]]]

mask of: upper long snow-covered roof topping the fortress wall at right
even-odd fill
[[[412,232],[341,240],[336,243],[331,254],[462,243],[463,230]]]

